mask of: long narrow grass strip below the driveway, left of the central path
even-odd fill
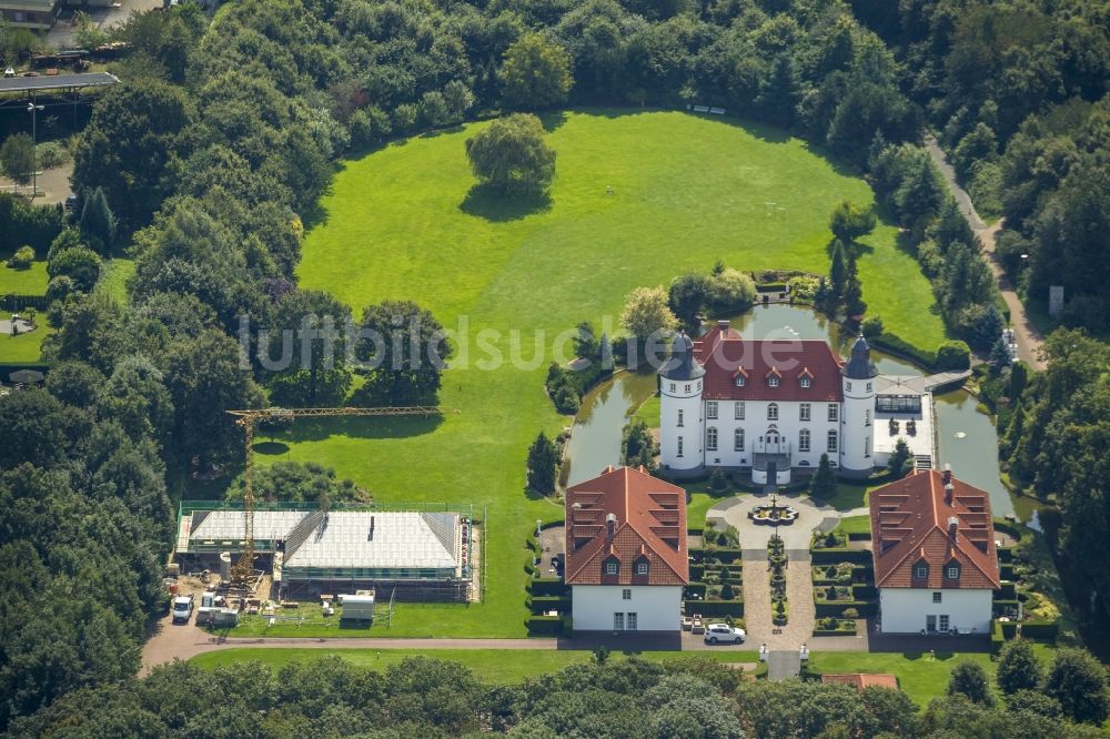
[[[192,662],[205,668],[220,667],[240,661],[260,661],[271,667],[281,667],[294,661],[337,656],[357,667],[385,669],[405,657],[434,657],[462,662],[484,682],[521,682],[527,677],[554,672],[567,665],[587,662],[593,652],[585,650],[535,650],[535,649],[221,649],[193,657]],[[674,651],[648,651],[637,655],[649,661],[665,661],[689,657]],[[708,657],[719,662],[758,662],[755,651],[705,651],[698,657]],[[614,650],[612,659],[625,659]]]

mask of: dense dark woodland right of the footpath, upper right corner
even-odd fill
[[[1110,322],[1110,10],[1099,0],[856,1],[898,50],[907,87],[976,204],[1003,215],[1007,270],[1064,321]],[[1028,255],[1028,269],[1022,264]]]

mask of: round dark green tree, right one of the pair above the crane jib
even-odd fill
[[[362,405],[430,403],[453,350],[431,312],[411,301],[383,301],[362,313],[355,357],[366,383],[356,393]]]

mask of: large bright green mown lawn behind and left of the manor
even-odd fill
[[[543,386],[556,334],[608,316],[612,335],[634,287],[708,272],[718,259],[826,272],[829,212],[844,199],[872,200],[861,180],[765,129],[639,111],[571,112],[548,124],[558,159],[546,207],[470,195],[464,142],[478,123],[347,162],[305,239],[302,287],[331,292],[356,317],[383,298],[413,300],[461,327],[441,422],[299,422],[287,451],[258,457],[329,465],[380,502],[465,502],[485,516],[483,603],[398,605],[391,636],[524,634],[525,537],[536,519],[562,518],[559,506],[524,492],[528,444],[569,425]],[[865,298],[888,331],[932,351],[944,328],[929,285],[895,241],[890,225],[866,240]]]

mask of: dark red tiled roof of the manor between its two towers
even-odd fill
[[[839,403],[840,360],[824,341],[744,340],[727,325],[716,325],[694,342],[694,356],[705,367],[707,401],[783,401]],[[747,382],[736,386],[737,373]],[[768,377],[778,376],[778,387]],[[801,378],[810,379],[809,387]]]

